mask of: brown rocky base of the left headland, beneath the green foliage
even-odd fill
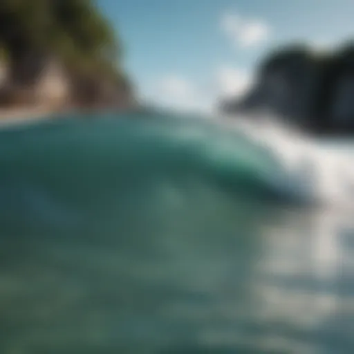
[[[132,109],[136,105],[131,84],[124,77],[114,78],[64,66],[48,56],[41,66],[28,64],[17,80],[3,67],[0,107],[38,107],[65,109]],[[38,63],[37,63],[38,64]]]

